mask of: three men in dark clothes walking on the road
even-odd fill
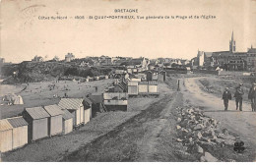
[[[242,98],[244,95],[244,91],[242,89],[242,83],[240,83],[236,88],[233,97],[235,97],[236,110],[242,111]],[[228,100],[232,98],[231,93],[228,87],[225,87],[223,99],[224,99],[224,111],[227,111],[228,108]],[[256,111],[256,83],[252,84],[252,87],[248,93],[248,99],[251,100],[251,108],[252,111]]]

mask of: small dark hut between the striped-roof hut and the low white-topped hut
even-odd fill
[[[96,117],[97,112],[105,111],[102,94],[90,94],[88,98],[92,101],[92,117],[93,118]]]

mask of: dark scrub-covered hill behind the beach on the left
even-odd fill
[[[53,81],[63,76],[87,78],[108,75],[113,68],[80,67],[79,63],[71,62],[22,62],[3,66],[1,75],[6,78],[3,83],[35,83]]]

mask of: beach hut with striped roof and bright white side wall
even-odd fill
[[[74,115],[73,125],[75,127],[84,124],[84,105],[82,98],[61,98],[58,105],[62,110],[67,109]]]

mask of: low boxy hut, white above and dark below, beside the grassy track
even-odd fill
[[[103,93],[103,99],[107,111],[127,111],[128,93],[105,92]]]

